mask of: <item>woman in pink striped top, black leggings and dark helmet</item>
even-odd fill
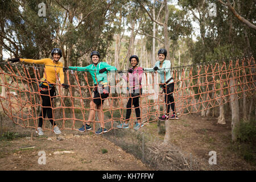
[[[119,129],[127,129],[129,128],[129,119],[131,115],[131,106],[134,105],[135,107],[135,113],[138,122],[135,123],[134,130],[138,130],[140,127],[144,126],[144,124],[141,122],[141,110],[139,109],[139,97],[142,94],[142,76],[143,76],[143,69],[141,67],[138,67],[139,64],[139,57],[136,55],[133,55],[130,57],[130,64],[131,68],[128,69],[128,79],[125,75],[123,75],[122,71],[119,71],[119,75],[125,79],[125,81],[129,82],[129,87],[127,89],[129,90],[129,100],[126,105],[126,118],[125,122],[121,123],[117,127]]]

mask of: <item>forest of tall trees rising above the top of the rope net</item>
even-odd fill
[[[65,67],[84,67],[97,50],[102,61],[127,70],[131,55],[142,68],[153,67],[159,48],[167,49],[172,67],[255,57],[255,6],[254,0],[1,0],[0,59],[42,59],[59,47]],[[250,110],[255,120],[255,94],[245,101],[236,102],[242,118],[250,120]]]

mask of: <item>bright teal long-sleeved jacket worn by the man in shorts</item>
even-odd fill
[[[105,71],[104,73],[99,73],[98,71],[100,71],[100,69],[102,69],[102,68],[106,68],[107,71]],[[90,75],[92,75],[94,84],[97,84],[97,82],[98,83],[101,82],[103,84],[108,83],[107,72],[117,71],[117,68],[112,67],[108,63],[105,63],[105,62],[99,62],[96,67],[94,64],[90,64],[87,67],[68,67],[68,69],[75,70],[75,71],[89,72]],[[96,80],[96,78],[97,78],[97,80]]]

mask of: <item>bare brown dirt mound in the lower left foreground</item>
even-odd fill
[[[50,131],[45,134],[51,135]],[[28,146],[34,148],[21,148]],[[42,164],[39,151],[45,152],[46,164]],[[65,151],[72,153],[61,153]],[[32,140],[25,137],[1,142],[0,155],[0,170],[150,170],[102,135],[61,134],[60,137],[34,137]]]

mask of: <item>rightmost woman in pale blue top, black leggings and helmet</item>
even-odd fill
[[[160,75],[160,80],[161,80],[160,87],[163,89],[164,102],[166,103],[166,114],[158,118],[160,121],[165,121],[169,119],[170,105],[173,113],[170,119],[179,119],[179,117],[177,117],[176,110],[175,110],[174,96],[172,95],[174,92],[174,78],[171,77],[171,61],[166,60],[166,56],[167,56],[166,49],[159,49],[158,51],[159,61],[156,61],[155,67],[144,68],[144,71],[158,72]]]

